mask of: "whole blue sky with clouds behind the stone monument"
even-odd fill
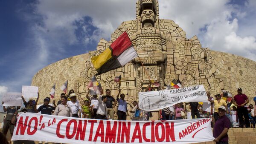
[[[136,0],[0,0],[0,95],[20,92],[58,60],[96,50],[100,38],[134,20]],[[256,61],[256,0],[159,0],[202,47]]]

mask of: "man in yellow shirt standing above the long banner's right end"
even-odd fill
[[[214,100],[214,113],[213,113],[213,117],[214,117],[215,121],[217,121],[217,119],[219,118],[218,108],[220,106],[226,107],[227,113],[229,113],[229,111],[227,109],[226,101],[224,99],[221,99],[221,95],[220,94],[216,94],[215,95],[215,100]]]

